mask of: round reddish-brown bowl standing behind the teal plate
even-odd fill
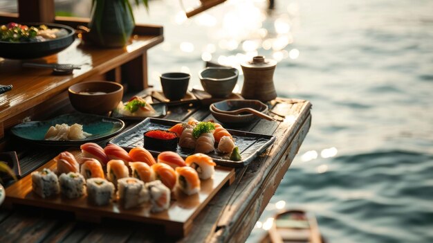
[[[103,92],[101,94],[92,94]],[[71,105],[80,112],[107,114],[119,105],[123,86],[116,82],[91,81],[74,84],[68,89]]]

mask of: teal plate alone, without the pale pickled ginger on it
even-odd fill
[[[83,126],[84,132],[92,134],[82,140],[48,141],[44,136],[50,126],[66,123],[73,125],[78,123]],[[122,120],[96,116],[91,114],[65,114],[57,116],[51,120],[33,121],[21,123],[12,127],[10,132],[25,141],[34,142],[41,145],[80,145],[94,141],[100,141],[118,134],[125,127]]]

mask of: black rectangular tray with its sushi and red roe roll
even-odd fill
[[[275,141],[275,136],[225,129],[219,123],[191,118],[187,123],[147,118],[109,141],[125,150],[145,147],[154,156],[174,151],[183,158],[201,153],[223,166],[247,165]]]

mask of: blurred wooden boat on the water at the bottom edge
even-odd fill
[[[324,243],[324,240],[312,213],[303,210],[287,210],[275,215],[273,225],[261,242]]]

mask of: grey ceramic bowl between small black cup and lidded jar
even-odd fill
[[[239,71],[237,69],[210,66],[199,73],[199,78],[203,89],[210,93],[212,97],[224,98],[229,96],[237,83]]]

